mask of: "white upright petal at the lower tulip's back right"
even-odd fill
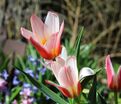
[[[71,70],[72,76],[73,76],[72,80],[76,84],[78,82],[78,80],[79,80],[76,57],[75,56],[70,56],[66,61],[66,65],[70,67],[70,70]]]

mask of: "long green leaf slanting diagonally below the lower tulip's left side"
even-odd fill
[[[19,68],[17,68],[17,69],[20,72],[22,72],[34,86],[36,86],[43,94],[46,94],[48,97],[50,97],[53,101],[55,101],[56,103],[59,103],[59,104],[68,104],[64,99],[59,97],[56,93],[51,91],[49,88],[47,88],[42,83],[39,83],[36,79],[32,78],[29,74],[25,73],[24,71],[20,70]]]

